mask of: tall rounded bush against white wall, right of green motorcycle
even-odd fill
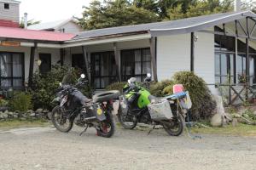
[[[174,74],[172,78],[173,82],[183,84],[184,89],[189,91],[193,104],[191,116],[194,121],[212,116],[216,103],[212,100],[211,92],[201,77],[197,77],[190,71],[180,71]]]

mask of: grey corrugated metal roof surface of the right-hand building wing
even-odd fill
[[[256,14],[253,14],[251,11],[242,11],[242,12],[231,12],[224,14],[210,14],[199,17],[193,17],[183,20],[172,20],[172,21],[164,21],[164,22],[156,22],[142,25],[134,25],[134,26],[118,26],[112,28],[98,29],[92,31],[83,31],[79,33],[77,37],[74,37],[73,40],[91,38],[91,37],[104,37],[110,35],[117,34],[125,34],[129,32],[138,32],[138,31],[150,31],[150,30],[158,30],[158,29],[167,29],[167,30],[177,30],[187,28],[189,26],[200,26],[205,23],[216,24],[216,21],[221,23],[222,21],[226,21],[224,19],[236,20],[241,17],[241,15],[253,15],[256,17]],[[245,17],[245,16],[243,16]]]

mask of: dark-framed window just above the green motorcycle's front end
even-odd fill
[[[151,54],[149,48],[129,49],[121,52],[121,74],[126,81],[136,77],[143,82],[147,73],[151,73]]]

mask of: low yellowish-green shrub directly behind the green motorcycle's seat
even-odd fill
[[[149,91],[154,96],[162,97],[165,95],[164,89],[167,86],[172,84],[173,84],[172,80],[163,80],[161,82],[154,82],[150,85]]]

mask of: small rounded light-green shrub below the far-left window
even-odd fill
[[[9,102],[12,111],[32,110],[32,95],[25,92],[15,92],[14,98]]]

